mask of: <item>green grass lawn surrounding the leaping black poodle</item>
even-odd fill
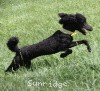
[[[63,30],[60,12],[86,16],[93,31],[77,32],[74,40],[87,39],[92,52],[80,45],[64,59],[60,53],[33,59],[33,71],[5,73],[15,55],[6,46],[8,39],[19,37],[19,47],[38,43]],[[100,0],[0,0],[0,91],[100,91],[99,40]]]

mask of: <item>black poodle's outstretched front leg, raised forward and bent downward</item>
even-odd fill
[[[90,47],[90,45],[89,45],[89,43],[88,43],[87,40],[73,41],[73,42],[69,45],[69,48],[74,47],[74,46],[77,46],[77,45],[80,45],[80,44],[85,44],[85,45],[87,46],[87,50],[88,50],[89,52],[91,52],[91,47]]]

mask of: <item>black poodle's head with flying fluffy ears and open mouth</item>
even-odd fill
[[[63,25],[63,28],[74,32],[78,30],[83,35],[86,35],[86,30],[92,31],[92,27],[87,23],[86,18],[82,14],[66,14],[59,13],[59,23]]]

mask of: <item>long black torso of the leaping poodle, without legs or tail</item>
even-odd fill
[[[43,41],[20,48],[23,58],[33,59],[41,55],[54,54],[63,51],[72,42],[73,38],[60,30]]]

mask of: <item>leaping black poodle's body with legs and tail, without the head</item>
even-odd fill
[[[16,71],[21,66],[29,69],[31,67],[31,60],[42,55],[50,55],[58,52],[64,52],[60,54],[60,57],[64,58],[72,53],[72,50],[70,48],[80,44],[86,45],[87,50],[91,52],[88,41],[73,41],[73,37],[70,34],[65,34],[60,30],[57,30],[49,38],[44,39],[37,44],[19,48],[18,42],[19,40],[17,37],[12,37],[7,43],[8,48],[12,52],[15,52],[16,55],[13,58],[10,66],[7,68],[6,72]]]

